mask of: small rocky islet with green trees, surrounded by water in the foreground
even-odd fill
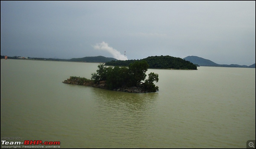
[[[99,64],[97,73],[92,73],[91,79],[70,77],[63,83],[130,93],[157,92],[158,86],[153,82],[158,82],[158,74],[150,72],[146,79],[148,67],[147,61],[136,61],[130,63],[128,67],[106,67],[104,64]]]

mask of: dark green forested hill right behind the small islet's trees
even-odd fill
[[[135,61],[145,60],[149,64],[149,68],[158,68],[158,69],[189,69],[197,70],[196,65],[193,63],[183,60],[179,57],[173,56],[149,56],[140,60],[118,60],[106,62],[105,65],[108,66],[128,66],[130,63]]]

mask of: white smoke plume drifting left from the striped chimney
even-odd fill
[[[119,51],[117,51],[116,49],[109,47],[108,43],[106,42],[101,42],[101,43],[97,43],[95,46],[93,46],[94,49],[97,50],[104,50],[109,52],[110,54],[112,54],[114,56],[114,58],[118,59],[118,60],[128,60],[128,58],[124,55],[122,55]]]

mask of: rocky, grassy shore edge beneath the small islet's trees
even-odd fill
[[[108,89],[106,81],[100,81],[99,83],[94,83],[93,80],[80,78],[80,77],[70,77],[67,80],[64,80],[62,83]],[[142,85],[133,86],[133,87],[122,86],[119,88],[115,88],[113,90],[121,91],[121,92],[129,92],[129,93],[148,93],[149,92]]]

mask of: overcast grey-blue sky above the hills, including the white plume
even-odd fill
[[[251,65],[255,1],[1,1],[1,55]]]

